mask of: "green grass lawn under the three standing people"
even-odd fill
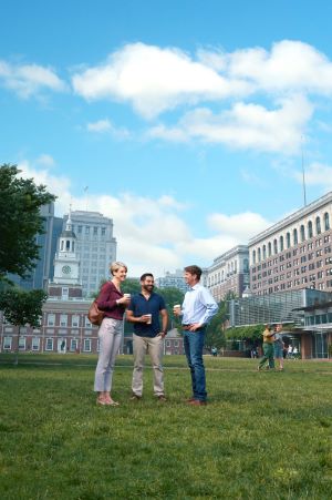
[[[164,358],[129,401],[132,357],[114,375],[118,408],[97,407],[95,356],[0,356],[1,499],[331,499],[332,364],[207,358],[209,405],[188,407],[184,357]]]

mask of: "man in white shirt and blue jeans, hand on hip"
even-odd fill
[[[183,316],[184,346],[191,374],[193,397],[189,405],[206,405],[207,391],[203,348],[205,329],[218,310],[218,305],[210,292],[200,285],[201,269],[198,266],[185,267],[185,280],[190,289],[186,293],[180,312],[174,309],[176,316]]]

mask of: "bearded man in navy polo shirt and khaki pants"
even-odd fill
[[[126,310],[127,320],[134,324],[132,400],[142,398],[144,358],[148,353],[154,370],[154,394],[159,401],[166,401],[162,356],[164,337],[167,335],[168,315],[164,298],[154,292],[154,283],[153,274],[143,274],[141,293],[133,296]],[[159,316],[162,317],[162,328]]]

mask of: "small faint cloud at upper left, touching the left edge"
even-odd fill
[[[23,99],[39,94],[43,90],[63,92],[66,89],[65,83],[51,68],[38,64],[10,64],[1,60],[0,82]]]

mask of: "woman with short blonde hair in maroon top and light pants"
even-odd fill
[[[122,262],[111,264],[111,282],[105,283],[96,299],[100,310],[104,312],[104,319],[100,326],[100,355],[95,370],[94,390],[98,392],[97,405],[118,406],[111,396],[112,378],[116,353],[118,351],[123,334],[123,315],[131,298],[124,297],[121,284],[127,275],[127,266]]]

